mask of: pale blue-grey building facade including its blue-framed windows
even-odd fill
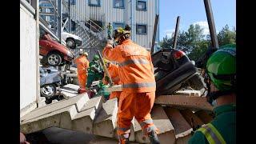
[[[85,25],[94,22],[94,27],[102,27],[104,34],[109,22],[113,28],[130,25],[131,39],[150,50],[159,0],[71,0],[70,7],[71,18],[85,22]],[[72,30],[76,29],[75,22],[71,26]],[[158,41],[159,31],[156,34]]]

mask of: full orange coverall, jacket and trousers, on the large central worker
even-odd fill
[[[125,142],[133,117],[142,126],[144,134],[152,130],[158,131],[150,116],[156,88],[150,52],[126,39],[115,48],[107,44],[103,56],[119,63],[119,77],[122,82],[122,94],[118,102],[119,141]]]

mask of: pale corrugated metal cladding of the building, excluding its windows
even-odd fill
[[[124,0],[125,9],[114,8],[114,0],[100,0],[101,6],[89,6],[89,0],[76,0],[71,12],[80,21],[92,19],[107,23],[124,22],[132,26],[132,39],[141,46],[150,49],[154,30],[154,17],[158,13],[159,0],[147,0],[147,10],[137,10],[137,0]],[[146,24],[147,34],[136,34],[136,24]],[[157,34],[158,35],[158,34]],[[158,38],[157,38],[158,39]]]

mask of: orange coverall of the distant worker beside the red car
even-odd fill
[[[80,56],[75,59],[75,63],[77,64],[78,68],[78,82],[79,86],[82,89],[86,88],[86,81],[87,81],[87,68],[89,67],[89,61],[87,60],[86,56]]]

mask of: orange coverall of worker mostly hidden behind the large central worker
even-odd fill
[[[114,64],[110,63],[110,66],[107,68],[107,70],[109,71],[110,77],[111,77],[114,85],[122,84],[121,81],[120,81],[120,78],[119,78],[119,70],[118,70],[117,65],[114,65]],[[106,74],[104,74],[104,78],[103,78],[103,83],[106,85],[106,84],[108,84],[108,82],[106,81],[105,77],[106,77]],[[122,91],[113,91],[113,92],[111,92],[110,99],[112,99],[112,98],[118,98],[119,99],[121,92]]]

